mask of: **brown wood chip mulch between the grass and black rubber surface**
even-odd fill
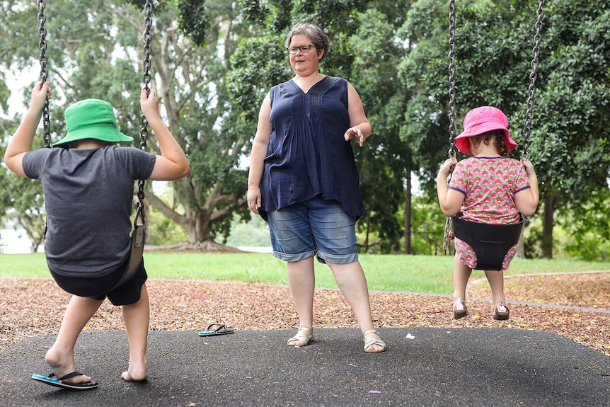
[[[69,294],[52,279],[1,278],[0,284],[0,350],[25,338],[57,333]],[[216,322],[256,331],[299,325],[285,286],[158,279],[146,285],[151,330],[200,331]],[[485,281],[468,288],[469,297],[485,300],[468,299],[469,314],[457,321],[451,319],[450,297],[371,292],[370,299],[379,327],[548,331],[610,356],[610,272],[510,277],[505,279],[505,293],[510,306],[508,321],[492,319],[493,304],[486,299],[490,290]],[[313,312],[315,328],[357,328],[350,306],[338,290],[316,290]],[[124,330],[120,307],[104,302],[86,329]]]

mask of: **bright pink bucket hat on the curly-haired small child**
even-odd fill
[[[493,106],[480,106],[466,113],[464,132],[456,137],[456,147],[463,153],[472,154],[468,137],[478,136],[492,130],[504,130],[508,151],[517,147],[517,143],[510,138],[506,115],[502,113],[502,110]]]

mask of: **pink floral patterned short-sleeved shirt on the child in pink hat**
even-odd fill
[[[514,194],[530,188],[524,166],[508,157],[469,157],[459,161],[449,188],[464,194],[459,217],[478,223],[519,222]]]

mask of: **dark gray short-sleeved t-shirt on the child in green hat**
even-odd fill
[[[101,277],[130,251],[134,180],[148,179],[156,156],[135,147],[39,149],[23,156],[45,193],[45,254],[54,273]]]

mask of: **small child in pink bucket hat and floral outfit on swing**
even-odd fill
[[[510,137],[508,120],[502,110],[481,106],[464,117],[464,132],[456,137],[459,151],[471,154],[462,161],[447,159],[437,176],[437,194],[443,213],[484,224],[514,224],[520,214],[531,216],[539,202],[538,178],[529,160],[508,157],[517,147]],[[451,173],[451,166],[455,166]],[[451,181],[447,178],[451,173]],[[468,243],[454,239],[454,319],[468,314],[466,285],[477,258]],[[510,248],[502,261],[502,269],[485,270],[493,302],[493,319],[509,319],[504,294],[504,271],[517,253]]]

